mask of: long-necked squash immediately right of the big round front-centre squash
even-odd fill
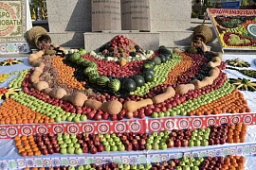
[[[140,100],[140,101],[127,101],[124,103],[123,105],[123,109],[126,111],[131,111],[134,112],[140,108],[146,107],[148,105],[152,105],[153,101],[150,98],[144,99],[144,100]]]

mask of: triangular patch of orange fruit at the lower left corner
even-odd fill
[[[53,123],[44,114],[30,110],[26,106],[15,102],[12,98],[7,98],[0,106],[0,125],[32,124],[32,123]]]

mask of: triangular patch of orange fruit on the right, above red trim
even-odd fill
[[[210,115],[219,114],[223,112],[236,113],[236,112],[250,112],[251,110],[247,106],[247,100],[244,99],[243,93],[238,92],[238,89],[232,93],[229,93],[217,100],[212,101],[210,104],[203,105],[196,110],[192,110],[188,113],[192,115]]]

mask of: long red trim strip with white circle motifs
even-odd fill
[[[46,134],[64,133],[78,134],[81,132],[106,134],[123,132],[159,132],[163,130],[201,128],[221,124],[244,123],[253,126],[256,122],[255,113],[243,114],[220,114],[210,116],[176,116],[162,119],[141,119],[141,120],[122,120],[122,121],[87,121],[87,122],[64,122],[52,124],[19,124],[19,125],[0,125],[0,139],[10,139],[17,135],[31,135],[35,133]]]

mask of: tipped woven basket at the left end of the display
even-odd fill
[[[47,35],[47,31],[42,26],[34,26],[27,32],[27,42],[31,47],[36,46],[39,49],[43,49],[45,43],[51,42],[50,37]]]

